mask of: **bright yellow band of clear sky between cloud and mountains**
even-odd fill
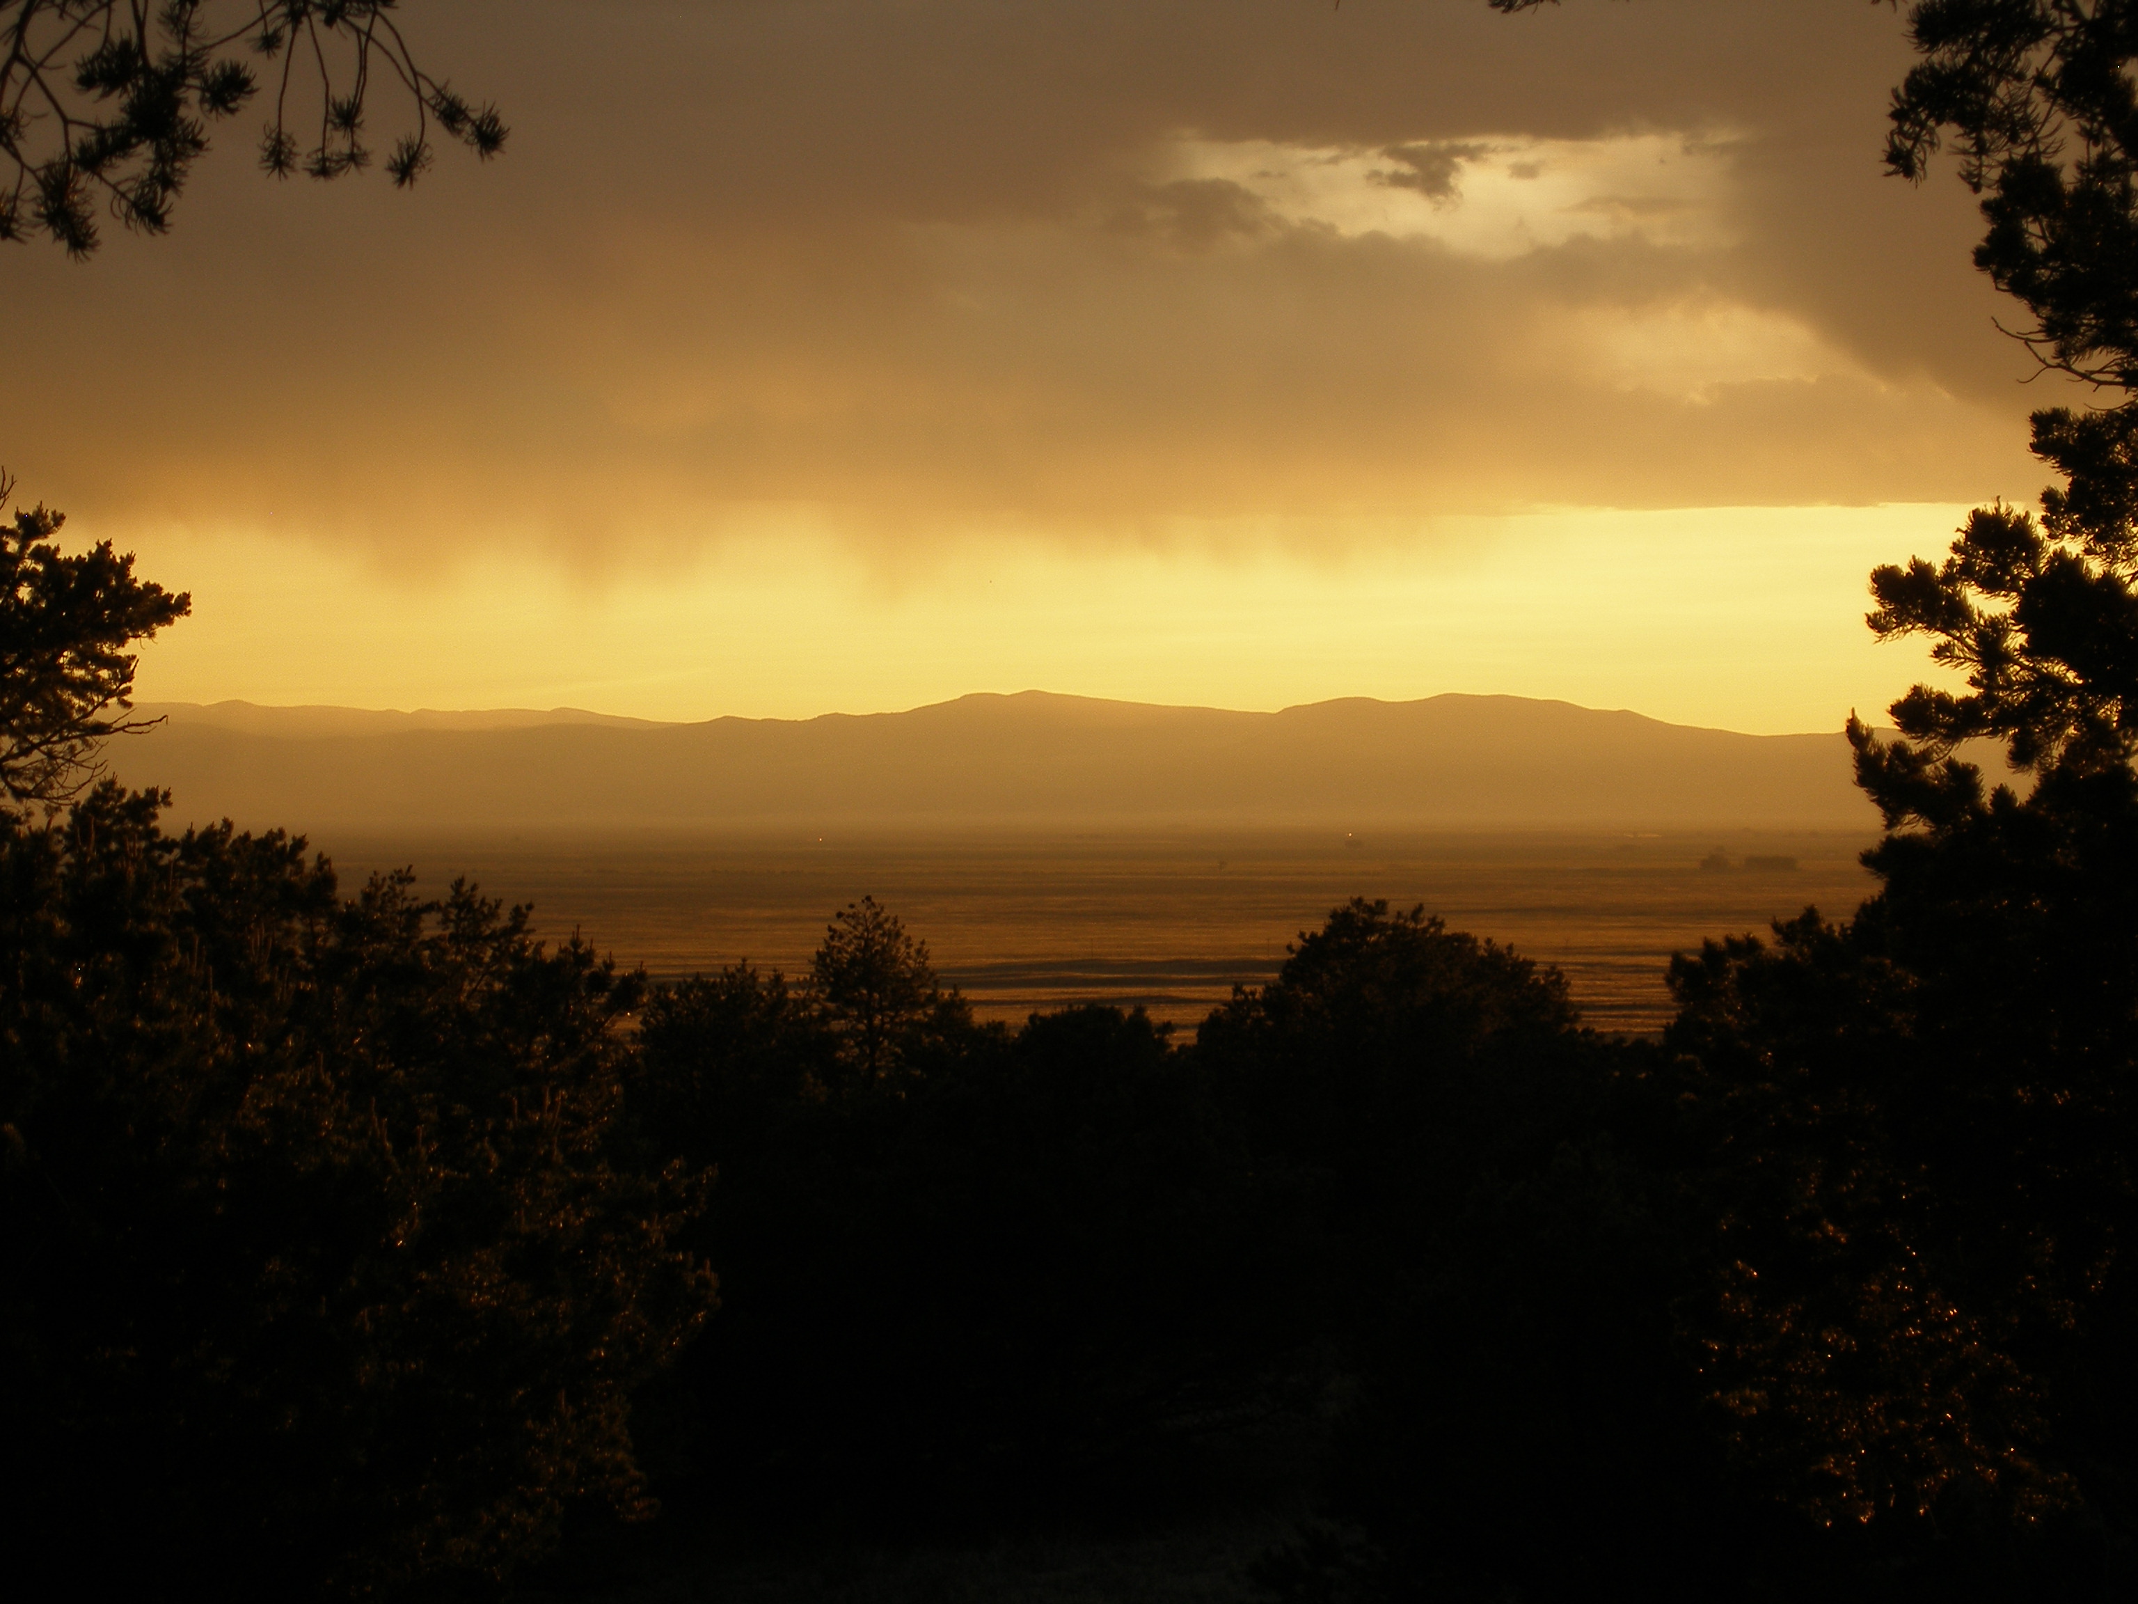
[[[1839,729],[1928,674],[1864,629],[1869,569],[1943,550],[1963,515],[1561,511],[1323,554],[1026,539],[921,582],[791,537],[588,584],[505,556],[393,577],[321,545],[143,530],[139,571],[192,590],[195,616],[143,650],[137,695],[695,721],[1026,689],[1249,710],[1462,691]]]

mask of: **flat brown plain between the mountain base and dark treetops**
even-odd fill
[[[1559,965],[1610,1031],[1668,1018],[1663,969],[1704,937],[1764,932],[1869,892],[1860,832],[1486,834],[1180,832],[325,832],[344,875],[413,866],[530,903],[654,980],[750,960],[789,975],[834,911],[874,896],[986,1018],[1075,1001],[1193,1029],[1236,984],[1351,896],[1424,905],[1450,928]]]

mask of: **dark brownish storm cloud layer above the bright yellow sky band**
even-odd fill
[[[1879,175],[1907,58],[1860,0],[421,0],[408,26],[507,109],[498,165],[274,186],[239,133],[175,237],[0,257],[26,492],[586,550],[795,507],[898,543],[2033,488],[2040,396],[1967,267],[1971,203]],[[1721,141],[1715,237],[1601,192],[1604,237],[1492,257],[1165,167],[1184,139],[1358,152],[1454,216],[1494,141],[1644,133]],[[1702,379],[1702,329],[1751,355]],[[1817,361],[1762,368],[1790,340]]]

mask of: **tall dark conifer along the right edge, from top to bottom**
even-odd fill
[[[1873,573],[1871,629],[1967,680],[1896,701],[1901,740],[1849,723],[1888,826],[1877,896],[1674,969],[1719,1232],[1691,1328],[1779,1497],[1931,1572],[1990,1555],[2100,1587],[2138,1542],[2138,11],[1920,4],[1911,26],[1896,171],[1958,141],[1978,265],[2044,364],[2123,400],[2035,415],[2059,477],[2040,520],[1984,507],[1943,562]],[[1988,785],[1965,742],[2014,778]]]

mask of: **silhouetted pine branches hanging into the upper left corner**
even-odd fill
[[[408,186],[434,137],[496,156],[505,122],[417,64],[398,0],[0,0],[0,240],[41,233],[88,257],[103,205],[162,233],[210,126],[272,96],[259,160],[342,178],[376,158],[378,83],[406,126],[385,169]]]

